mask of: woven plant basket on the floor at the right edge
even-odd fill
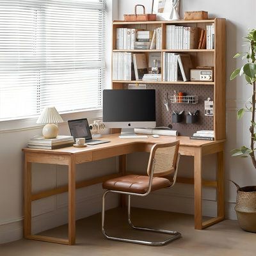
[[[240,227],[256,233],[256,186],[237,187],[236,215]]]

